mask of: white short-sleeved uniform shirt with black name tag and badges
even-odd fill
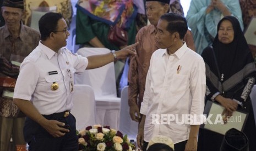
[[[14,98],[31,101],[45,115],[70,111],[74,73],[83,73],[87,65],[86,57],[73,54],[66,48],[55,53],[40,41],[21,63]],[[53,83],[58,84],[57,90],[51,90]]]

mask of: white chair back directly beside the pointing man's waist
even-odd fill
[[[77,120],[77,130],[82,130],[86,126],[96,124],[94,91],[90,85],[75,84],[73,102],[71,113]]]

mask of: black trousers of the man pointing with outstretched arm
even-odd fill
[[[77,151],[78,136],[75,128],[75,117],[69,113],[68,117],[45,117],[49,120],[58,120],[70,126],[70,131],[62,137],[53,137],[34,120],[26,118],[24,138],[29,144],[29,151]]]

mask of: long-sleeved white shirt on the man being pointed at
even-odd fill
[[[186,43],[172,55],[168,55],[166,49],[156,50],[150,60],[140,109],[140,113],[146,115],[144,141],[149,142],[156,135],[168,136],[173,143],[188,140],[190,125],[205,121],[202,116],[205,83],[204,60],[187,48]],[[158,120],[160,124],[157,124],[154,114],[177,114],[178,118],[167,124]],[[198,116],[194,123],[177,124],[176,120],[182,122],[181,114]]]

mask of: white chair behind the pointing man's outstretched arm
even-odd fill
[[[80,48],[77,53],[81,56],[107,54],[107,48]],[[117,97],[114,63],[86,70],[83,74],[75,75],[75,84],[88,84],[92,87],[96,102],[96,122],[113,129],[119,126],[121,98]]]

